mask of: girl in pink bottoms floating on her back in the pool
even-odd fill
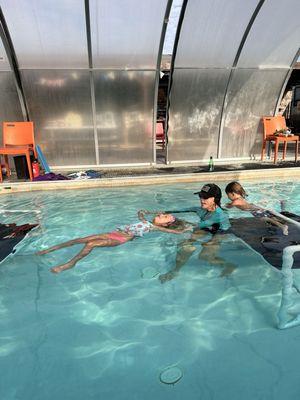
[[[75,244],[84,244],[83,249],[70,261],[51,268],[51,272],[58,274],[66,269],[73,268],[79,260],[86,257],[95,247],[119,246],[129,242],[130,240],[133,240],[136,237],[142,237],[144,234],[153,230],[179,234],[191,229],[191,225],[188,226],[184,223],[184,221],[176,220],[171,214],[159,213],[153,218],[152,222],[149,222],[145,219],[145,214],[146,212],[143,210],[138,212],[139,222],[137,223],[119,227],[116,230],[108,233],[100,233],[97,235],[72,239],[68,242],[50,247],[49,249],[39,251],[37,254],[47,254],[51,251],[73,246]]]

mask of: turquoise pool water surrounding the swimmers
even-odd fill
[[[249,201],[300,214],[300,182],[245,183]],[[74,237],[136,220],[138,209],[197,205],[201,184],[0,197],[4,222],[36,222],[0,265],[1,400],[298,399],[300,327],[280,331],[280,273],[238,238],[221,255],[238,268],[199,260],[201,243],[179,276],[179,235],[153,232],[116,248],[95,249],[76,268],[50,267],[80,246],[37,256]],[[224,188],[224,185],[221,185]],[[239,211],[231,211],[234,216]],[[175,385],[160,373],[177,366]]]

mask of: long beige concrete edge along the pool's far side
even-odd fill
[[[232,180],[270,178],[300,178],[300,168],[238,170],[222,172],[201,172],[189,174],[143,175],[116,178],[100,178],[86,180],[63,180],[43,182],[4,182],[0,184],[0,195],[37,190],[89,189],[139,185],[162,185],[189,182],[220,182]]]

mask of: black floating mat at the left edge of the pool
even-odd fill
[[[0,262],[14,252],[14,247],[35,228],[37,224],[0,224]]]

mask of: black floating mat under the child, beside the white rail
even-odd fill
[[[294,220],[299,218],[291,213],[282,214],[289,218],[293,217]],[[283,249],[286,246],[300,244],[300,229],[292,223],[287,223],[288,236],[284,236],[281,229],[269,225],[260,218],[230,219],[230,223],[231,233],[244,240],[276,268],[282,266]],[[293,268],[300,268],[300,252],[294,254]]]

